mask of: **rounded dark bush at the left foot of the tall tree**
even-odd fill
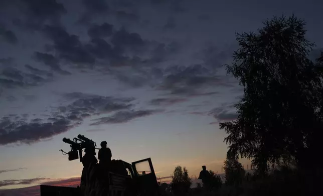
[[[228,185],[238,185],[242,183],[245,170],[236,157],[227,156],[224,161],[225,183]]]

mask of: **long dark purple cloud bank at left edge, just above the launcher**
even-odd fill
[[[47,122],[45,119],[28,122],[26,118],[11,119],[5,116],[0,120],[0,145],[31,144],[66,132],[73,126],[73,122],[63,116],[53,118],[52,122]]]

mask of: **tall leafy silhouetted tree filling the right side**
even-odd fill
[[[226,68],[244,97],[235,105],[238,118],[220,128],[229,134],[229,152],[252,158],[258,173],[292,158],[305,166],[319,154],[322,84],[308,58],[314,44],[305,39],[305,24],[294,15],[273,17],[258,33],[236,33],[240,48]]]

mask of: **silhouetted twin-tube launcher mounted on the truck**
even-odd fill
[[[96,148],[96,143],[85,137],[84,135],[77,135],[77,137],[74,137],[73,141],[69,138],[64,137],[63,141],[65,143],[70,144],[71,146],[71,151],[69,152],[64,152],[62,149],[60,151],[63,152],[63,154],[68,154],[68,160],[75,160],[80,158],[80,161],[82,161],[82,150],[83,148]],[[77,141],[80,141],[79,143]],[[98,148],[96,148],[98,149]],[[64,155],[65,155],[64,154]]]

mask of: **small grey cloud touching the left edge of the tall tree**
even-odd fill
[[[217,122],[231,121],[238,117],[234,105],[220,106],[211,110],[210,114],[217,120]]]

